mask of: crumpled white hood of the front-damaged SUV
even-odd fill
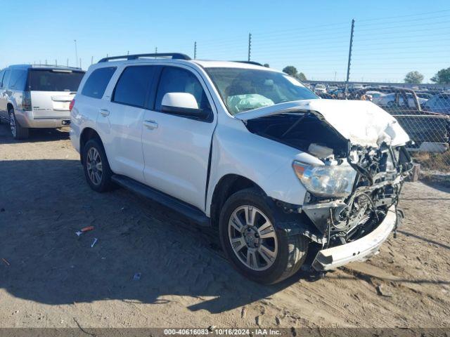
[[[364,100],[297,100],[240,112],[234,117],[246,121],[289,112],[311,112],[326,121],[352,145],[378,147],[385,142],[399,146],[408,134],[391,114]]]

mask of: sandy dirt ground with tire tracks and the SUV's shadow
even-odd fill
[[[2,124],[0,174],[0,327],[450,326],[444,187],[406,183],[398,237],[367,263],[262,286],[214,232],[127,190],[91,191],[67,132],[15,142]]]

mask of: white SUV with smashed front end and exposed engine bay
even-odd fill
[[[364,260],[397,226],[409,137],[373,103],[174,53],[101,60],[71,107],[93,190],[121,185],[217,228],[257,282]]]

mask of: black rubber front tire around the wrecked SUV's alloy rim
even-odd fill
[[[252,270],[236,256],[230,242],[229,221],[233,212],[240,206],[252,206],[264,213],[274,225],[278,252],[274,263],[266,270]],[[276,216],[274,216],[276,214]],[[255,282],[275,284],[293,276],[302,266],[307,256],[309,239],[300,234],[288,235],[285,230],[279,230],[276,219],[283,217],[274,202],[256,188],[241,190],[231,195],[221,209],[219,218],[219,236],[226,256],[233,267]]]

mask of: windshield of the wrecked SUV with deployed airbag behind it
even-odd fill
[[[297,79],[280,72],[207,68],[230,114],[270,105],[318,98]]]

